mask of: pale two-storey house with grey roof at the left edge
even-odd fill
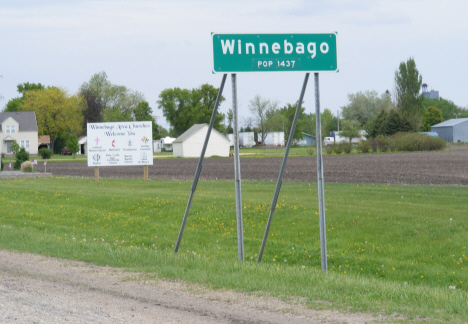
[[[1,153],[12,154],[11,143],[15,140],[26,152],[37,155],[38,134],[34,111],[0,113]]]

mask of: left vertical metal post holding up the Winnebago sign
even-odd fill
[[[234,114],[234,180],[236,186],[236,219],[237,219],[237,251],[239,261],[244,261],[244,229],[242,221],[242,193],[239,159],[239,130],[237,111],[236,74],[231,74],[232,81],[232,111]]]

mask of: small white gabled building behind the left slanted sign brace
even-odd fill
[[[207,124],[195,124],[172,142],[174,157],[200,157],[205,143]],[[229,139],[213,128],[206,148],[205,157],[229,156]]]

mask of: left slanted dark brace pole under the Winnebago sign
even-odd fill
[[[200,173],[203,165],[203,158],[205,157],[206,148],[208,146],[208,141],[210,140],[211,130],[213,129],[213,124],[216,118],[216,113],[218,112],[219,102],[221,100],[221,95],[223,94],[224,84],[226,83],[227,74],[223,75],[221,81],[221,86],[219,87],[218,96],[216,97],[216,103],[213,108],[213,113],[211,114],[210,125],[208,126],[208,131],[206,132],[205,143],[200,154],[200,160],[198,160],[197,170],[195,171],[195,176],[193,177],[192,189],[190,191],[190,197],[187,202],[187,207],[185,208],[184,219],[182,220],[182,225],[180,226],[179,236],[177,237],[177,243],[174,248],[174,253],[179,251],[180,242],[182,241],[182,235],[184,234],[185,223],[187,222],[187,217],[190,211],[190,206],[192,205],[192,199],[197,189],[198,179],[200,178]]]

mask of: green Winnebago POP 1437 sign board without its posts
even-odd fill
[[[337,33],[212,33],[211,37],[213,73],[338,72]]]

